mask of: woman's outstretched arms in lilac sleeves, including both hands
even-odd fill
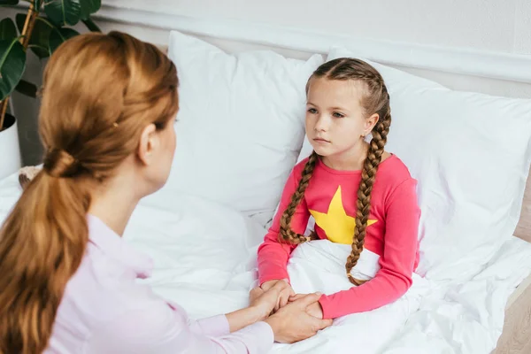
[[[274,339],[279,342],[300,341],[332,324],[331,320],[316,319],[306,312],[306,308],[319,299],[318,295],[311,294],[287,305],[266,321],[246,325],[265,318],[264,313],[271,312],[274,299],[286,286],[275,285],[268,291],[254,289],[255,300],[249,308],[212,317],[202,324],[197,321],[198,326],[204,326],[224,318],[225,326],[234,331],[232,334],[207,336],[197,333],[189,326],[181,307],[173,308],[160,300],[102,324],[83,349],[88,352],[158,354],[266,353],[271,350]]]

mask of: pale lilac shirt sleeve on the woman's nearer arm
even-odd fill
[[[273,348],[273,330],[266,322],[232,334],[205,335],[226,332],[227,326],[216,316],[190,327],[186,313],[174,311],[161,301],[105,322],[93,333],[84,352],[262,354]]]

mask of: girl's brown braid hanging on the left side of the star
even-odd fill
[[[304,165],[304,170],[302,173],[301,181],[299,181],[296,191],[291,196],[291,202],[289,203],[286,210],[282,213],[281,232],[279,233],[280,242],[289,242],[289,243],[298,244],[298,243],[303,243],[305,241],[308,241],[308,237],[297,234],[291,229],[291,219],[293,218],[293,215],[295,214],[296,207],[303,200],[304,191],[306,190],[306,187],[308,187],[308,183],[310,183],[310,179],[312,178],[313,169],[315,167],[315,164],[317,163],[318,158],[319,157],[317,156],[315,151],[313,151],[312,155],[310,155],[310,158],[308,158],[306,165]]]

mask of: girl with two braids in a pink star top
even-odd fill
[[[289,255],[300,243],[351,244],[345,270],[355,286],[323,295],[308,308],[319,318],[335,319],[389,304],[411,287],[420,211],[416,181],[399,158],[384,151],[391,114],[381,74],[361,60],[338,58],[319,66],[306,92],[306,135],[313,152],[289,176],[258,249],[259,282],[262,289],[289,282]],[[306,237],[311,215],[315,231]],[[370,280],[355,276],[362,251],[379,268]],[[294,295],[290,287],[282,290],[275,310],[298,298]]]

